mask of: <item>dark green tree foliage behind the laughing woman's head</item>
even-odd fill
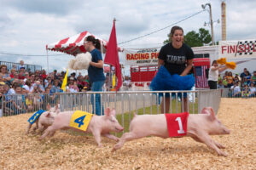
[[[170,37],[170,34],[168,34],[168,37]],[[167,39],[166,41],[164,41],[164,44],[166,44],[167,42],[170,42],[170,40]],[[189,47],[191,47],[191,48],[201,47],[204,44],[208,44],[208,43],[212,42],[212,37],[211,37],[209,31],[207,31],[204,28],[200,28],[199,32],[189,31],[184,36],[184,42],[186,44],[188,44]]]

